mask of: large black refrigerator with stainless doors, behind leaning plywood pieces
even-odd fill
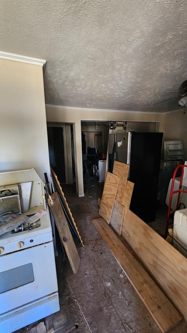
[[[109,134],[108,171],[114,160],[129,164],[128,180],[134,183],[130,210],[144,222],[155,220],[162,141],[163,133]]]

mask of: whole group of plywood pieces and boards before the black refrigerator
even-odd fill
[[[93,223],[161,331],[166,332],[182,319],[179,312],[187,320],[187,258],[130,211],[134,184],[127,180],[127,174],[128,166],[115,161],[113,174],[107,174],[100,201],[102,218]],[[179,312],[160,290],[158,292],[153,280],[130,257],[127,248],[106,223],[129,243]]]

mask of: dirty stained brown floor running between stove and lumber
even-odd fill
[[[101,197],[103,184],[89,175],[84,183],[85,196],[81,198],[76,195],[75,184],[62,185],[85,246],[78,247],[81,265],[77,275],[69,262],[63,264],[59,248],[56,264],[61,310],[44,318],[46,329],[53,327],[59,333],[160,333],[92,223],[98,217],[97,197]],[[161,234],[166,213],[166,207],[159,207],[157,221],[151,222]],[[34,325],[17,333],[29,332]],[[186,333],[186,322],[170,332]]]

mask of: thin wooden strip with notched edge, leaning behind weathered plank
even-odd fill
[[[55,171],[53,170],[52,167],[51,167],[51,174],[52,174],[52,178],[53,178],[53,181],[54,181],[55,187],[56,187],[56,189],[57,189],[57,192],[58,192],[58,194],[60,195],[60,198],[61,198],[62,203],[63,203],[63,205],[64,205],[64,207],[65,207],[65,209],[66,209],[66,212],[67,212],[67,214],[68,214],[68,216],[69,216],[69,218],[70,218],[70,221],[72,222],[74,228],[76,229],[77,234],[78,234],[78,236],[79,236],[79,239],[80,239],[82,245],[84,246],[83,241],[82,241],[82,239],[81,239],[81,235],[80,235],[80,233],[79,233],[79,230],[78,230],[78,228],[77,228],[77,225],[76,225],[76,223],[75,223],[75,220],[74,220],[74,218],[73,218],[73,216],[72,216],[72,212],[71,212],[71,210],[70,210],[70,208],[69,208],[69,206],[68,206],[68,202],[66,201],[66,197],[65,197],[64,192],[63,192],[63,190],[62,190],[62,187],[61,187],[61,185],[60,185],[60,182],[59,182],[59,180],[58,180],[58,178],[57,178],[57,175],[56,175],[56,173],[55,173]]]

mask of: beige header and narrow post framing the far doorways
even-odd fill
[[[81,120],[160,122],[162,118],[159,114],[75,110],[49,106],[46,106],[46,116],[48,122],[74,123],[76,188],[79,196],[84,196]]]

